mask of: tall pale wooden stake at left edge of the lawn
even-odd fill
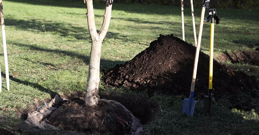
[[[10,90],[9,87],[9,70],[8,70],[8,61],[7,61],[7,48],[6,48],[6,38],[4,31],[4,18],[3,18],[3,1],[0,0],[0,16],[1,16],[1,28],[2,28],[2,37],[3,37],[3,55],[4,55],[4,65],[5,65],[5,76],[6,76],[6,84],[7,90]],[[2,81],[1,81],[2,83]],[[2,87],[1,87],[2,88]]]

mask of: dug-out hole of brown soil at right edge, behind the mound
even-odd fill
[[[257,51],[237,51],[231,53],[224,53],[217,56],[215,59],[226,62],[231,61],[231,63],[248,63],[251,65],[259,66],[259,52]]]

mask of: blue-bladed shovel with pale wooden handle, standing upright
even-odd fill
[[[197,74],[197,66],[198,66],[198,58],[199,58],[200,45],[201,45],[201,36],[202,36],[202,28],[203,28],[203,22],[204,22],[204,14],[205,14],[205,9],[207,9],[207,8],[209,8],[209,0],[204,0],[203,5],[202,5],[202,11],[201,11],[200,28],[199,28],[199,34],[198,34],[198,43],[197,43],[195,59],[194,59],[193,79],[192,79],[190,98],[189,99],[184,98],[183,106],[182,106],[182,114],[185,113],[186,115],[190,115],[190,116],[193,116],[195,104],[197,102],[197,101],[193,100],[194,85],[195,85],[196,74]]]

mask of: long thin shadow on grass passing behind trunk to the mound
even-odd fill
[[[43,52],[48,52],[48,53],[60,53],[62,55],[65,56],[70,56],[70,57],[76,57],[79,59],[82,59],[84,61],[84,63],[86,63],[87,65],[89,64],[90,61],[90,56],[84,56],[82,54],[79,53],[75,53],[72,51],[64,51],[64,50],[58,50],[58,49],[49,49],[49,48],[41,48],[38,47],[36,45],[26,45],[23,43],[19,43],[19,42],[8,42],[8,43],[12,43],[13,45],[17,45],[17,46],[21,46],[21,47],[28,47],[28,49],[30,50],[37,50],[37,51],[43,51]],[[107,70],[108,68],[112,68],[114,65],[116,64],[122,64],[124,63],[124,61],[112,61],[112,60],[106,60],[106,59],[102,59],[100,61],[101,67],[105,70]],[[42,65],[53,65],[51,63],[41,63]]]

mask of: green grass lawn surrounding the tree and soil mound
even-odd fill
[[[99,29],[104,4],[94,4],[94,8],[95,22]],[[16,110],[34,103],[35,97],[43,99],[57,93],[85,90],[91,39],[83,1],[4,0],[3,10],[9,73],[14,78],[10,78],[10,91],[7,91],[1,53],[3,92],[0,93],[0,108],[3,110],[0,109],[0,127],[11,129],[23,122],[16,115]],[[172,33],[182,38],[180,10],[180,7],[172,6],[114,3],[108,33],[102,44],[101,68],[109,69],[134,58],[150,42],[156,40],[159,34]],[[194,8],[197,36],[200,11],[201,8]],[[248,45],[259,43],[258,11],[217,9],[221,21],[219,25],[215,25],[216,55],[225,51],[255,49],[248,48]],[[194,44],[190,8],[185,8],[184,13],[185,40]],[[205,16],[207,15],[208,11]],[[209,22],[204,23],[203,30],[201,50],[208,53]],[[3,52],[2,47],[0,51]],[[241,67],[241,70],[250,68],[249,65],[228,64]],[[119,91],[125,93],[124,90]],[[259,134],[258,122],[244,121],[232,113],[228,109],[230,103],[227,100],[215,103],[212,116],[202,112],[203,101],[198,100],[195,114],[190,118],[181,114],[183,97],[154,95],[152,99],[161,103],[160,112],[155,120],[145,125],[146,135]],[[258,99],[249,96],[246,96],[246,101],[258,103]]]

